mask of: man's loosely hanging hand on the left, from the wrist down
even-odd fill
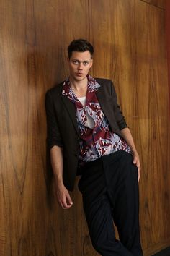
[[[69,209],[73,205],[68,190],[64,184],[55,184],[58,202],[63,209]]]

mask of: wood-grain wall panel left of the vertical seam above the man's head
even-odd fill
[[[1,256],[93,255],[80,194],[61,210],[45,164],[45,92],[68,75],[68,43],[89,37],[88,2],[1,1],[0,9]]]

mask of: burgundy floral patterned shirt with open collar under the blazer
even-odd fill
[[[102,155],[109,155],[117,150],[125,150],[131,153],[130,147],[119,135],[109,128],[109,122],[104,116],[102,108],[96,96],[100,87],[99,83],[87,76],[88,85],[86,93],[86,104],[82,106],[79,99],[71,89],[69,79],[63,83],[62,94],[72,101],[76,108],[76,119],[78,123],[81,140],[79,142],[79,159],[81,161],[94,161]],[[94,120],[94,127],[88,127],[87,115]]]

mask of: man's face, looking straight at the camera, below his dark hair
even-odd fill
[[[75,81],[82,81],[86,79],[93,61],[89,51],[79,52],[73,51],[71,58],[68,59],[70,69],[70,77]]]

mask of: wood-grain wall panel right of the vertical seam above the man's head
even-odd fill
[[[93,74],[115,81],[119,102],[140,153],[141,239],[149,255],[170,242],[164,11],[145,1],[120,0],[94,0],[90,10],[90,36],[97,53]],[[101,20],[97,19],[99,13]]]

